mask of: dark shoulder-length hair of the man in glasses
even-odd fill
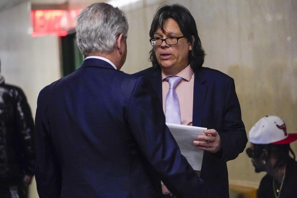
[[[189,51],[189,63],[194,71],[202,66],[205,53],[198,36],[195,19],[186,7],[179,4],[162,4],[159,6],[153,18],[151,29],[149,30],[149,36],[153,38],[154,33],[158,28],[164,30],[163,22],[169,18],[174,19],[177,22],[183,36],[185,36],[187,41],[192,44],[192,50]],[[192,36],[194,37],[194,41]],[[152,62],[153,67],[160,68],[154,48],[149,52],[149,55],[149,59]]]

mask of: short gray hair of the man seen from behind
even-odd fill
[[[127,38],[128,20],[118,7],[94,3],[80,12],[76,25],[76,42],[84,55],[113,51],[118,35]]]

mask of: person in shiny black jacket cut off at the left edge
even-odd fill
[[[1,62],[0,62],[1,68]],[[23,91],[0,75],[0,197],[25,198],[34,175],[34,122]]]

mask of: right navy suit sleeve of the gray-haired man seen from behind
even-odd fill
[[[140,150],[166,187],[178,197],[197,196],[203,182],[180,153],[160,101],[143,78],[134,87],[127,119]]]

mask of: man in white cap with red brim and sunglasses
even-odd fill
[[[267,172],[257,197],[297,197],[297,161],[290,148],[290,143],[297,140],[297,133],[288,134],[286,124],[278,116],[265,116],[252,127],[248,136],[251,145],[246,152],[252,158],[255,172]]]

